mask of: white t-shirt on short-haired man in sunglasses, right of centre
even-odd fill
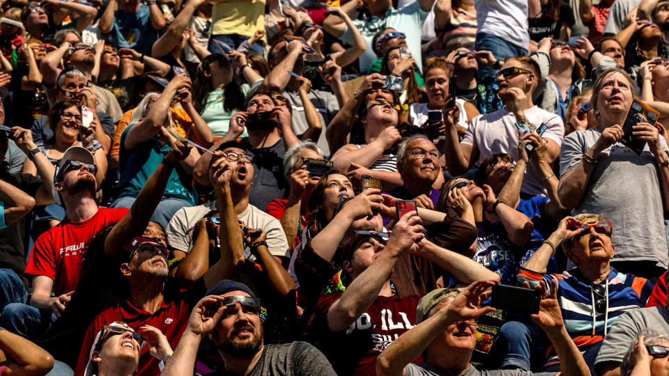
[[[545,123],[548,128],[546,128],[542,138],[553,140],[557,145],[562,144],[564,124],[560,116],[535,106],[525,110],[525,117],[537,127],[541,123]],[[516,116],[506,109],[479,115],[472,120],[472,124],[467,129],[461,144],[471,145],[479,150],[477,164],[481,164],[487,157],[499,152],[505,152],[511,155],[514,161],[517,161],[518,128],[515,124]],[[545,194],[542,178],[544,176],[541,175],[535,165],[528,164],[521,192],[532,196]]]

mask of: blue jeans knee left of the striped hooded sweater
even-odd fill
[[[501,369],[530,370],[532,349],[538,345],[539,333],[534,327],[523,322],[509,321],[500,328],[493,352],[500,354]]]

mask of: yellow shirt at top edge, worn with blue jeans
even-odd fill
[[[239,34],[253,36],[265,29],[265,0],[231,0],[214,4],[212,35]],[[234,46],[231,46],[234,48]]]

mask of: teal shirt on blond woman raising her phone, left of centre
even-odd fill
[[[132,149],[125,148],[125,137],[134,124],[128,125],[121,134],[121,150],[118,152],[118,164],[121,167],[121,180],[118,182],[118,197],[137,197],[146,180],[158,168],[169,145],[161,143],[157,137],[144,141]],[[197,193],[192,186],[192,176],[176,167],[169,174],[164,198],[180,198],[195,205]]]

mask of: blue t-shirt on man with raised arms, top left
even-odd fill
[[[140,54],[151,55],[158,31],[151,26],[151,10],[142,4],[137,13],[114,12],[114,47],[132,48]]]

